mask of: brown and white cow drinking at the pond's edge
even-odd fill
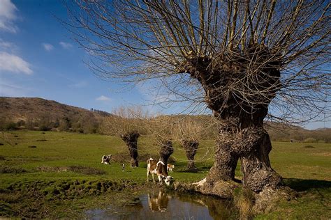
[[[172,176],[168,175],[167,166],[161,161],[156,162],[153,158],[147,160],[147,181],[149,181],[149,174],[152,174],[153,182],[155,182],[154,174],[156,174],[160,185],[163,184],[164,180],[165,184],[169,186],[173,180]]]

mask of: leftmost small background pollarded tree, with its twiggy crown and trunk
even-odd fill
[[[141,107],[119,107],[112,111],[112,116],[106,118],[103,123],[105,134],[119,136],[128,146],[131,157],[131,167],[138,167],[138,138],[144,131],[143,121],[147,117],[147,111]]]

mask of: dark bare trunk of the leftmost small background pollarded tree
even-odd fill
[[[122,134],[121,138],[128,146],[128,151],[130,152],[131,157],[131,167],[138,167],[138,138],[140,134],[138,132],[128,132]]]

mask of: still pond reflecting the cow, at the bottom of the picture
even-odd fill
[[[203,196],[165,192],[143,194],[124,207],[108,207],[85,212],[88,219],[237,219],[231,201]]]

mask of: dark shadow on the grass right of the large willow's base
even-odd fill
[[[309,191],[311,189],[331,189],[331,181],[326,180],[302,180],[288,178],[284,179],[285,184],[295,191]]]

